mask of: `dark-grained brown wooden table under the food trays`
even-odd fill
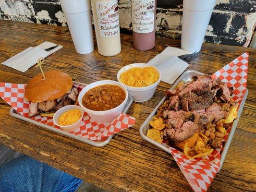
[[[63,48],[47,57],[44,69],[62,70],[89,84],[102,79],[116,80],[122,66],[146,63],[167,46],[180,46],[178,40],[157,38],[156,47],[143,52],[133,48],[131,36],[121,35],[121,39],[122,52],[117,56],[99,55],[96,41],[94,52],[81,55],[75,52],[67,27],[0,20],[0,63],[25,48],[50,41]],[[209,191],[256,190],[256,50],[205,43],[188,68],[212,74],[245,51],[250,54],[249,94],[222,170]],[[39,72],[35,67],[19,72],[0,65],[0,82],[26,84]],[[152,99],[134,102],[128,113],[136,118],[136,124],[115,134],[104,147],[74,141],[10,117],[10,106],[0,100],[0,143],[113,192],[192,191],[171,155],[147,143],[139,134],[140,125],[170,87],[161,82]]]

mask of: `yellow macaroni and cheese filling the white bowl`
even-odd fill
[[[158,81],[158,73],[153,67],[133,67],[120,75],[123,84],[132,87],[146,87]]]

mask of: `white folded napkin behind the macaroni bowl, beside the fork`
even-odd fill
[[[154,65],[161,72],[161,81],[173,84],[176,79],[189,66],[188,63],[178,58],[180,55],[190,54],[180,48],[165,48],[160,54],[148,61],[147,64]]]

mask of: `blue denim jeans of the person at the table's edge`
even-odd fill
[[[0,167],[0,192],[75,192],[81,183],[81,179],[25,155]]]

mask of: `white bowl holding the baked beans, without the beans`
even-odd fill
[[[122,88],[122,90],[125,93],[124,101],[119,106],[112,108],[110,110],[105,110],[105,111],[95,111],[95,110],[85,108],[83,106],[83,97],[85,96],[85,93],[94,87],[104,85],[104,84],[114,84],[114,85],[117,85],[120,88]],[[84,89],[82,89],[82,91],[80,91],[79,96],[78,96],[78,103],[79,103],[79,106],[85,112],[87,112],[87,114],[90,116],[90,118],[93,121],[98,122],[98,123],[111,123],[123,111],[124,106],[127,102],[127,99],[128,99],[128,92],[127,92],[127,89],[124,86],[122,86],[122,84],[120,84],[116,81],[102,80],[102,81],[94,82],[92,84],[88,84]]]

